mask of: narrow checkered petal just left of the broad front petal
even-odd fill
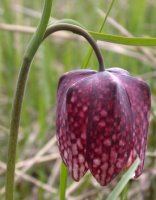
[[[92,76],[90,76],[92,77]],[[86,141],[91,85],[85,78],[72,85],[67,92],[67,140],[69,172],[78,181],[88,170]]]

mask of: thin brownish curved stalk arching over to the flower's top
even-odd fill
[[[96,41],[92,38],[92,36],[86,31],[84,30],[83,28],[79,27],[79,26],[76,26],[76,25],[72,25],[72,24],[66,24],[66,23],[57,23],[55,24],[54,26],[49,26],[46,33],[45,33],[45,36],[44,36],[44,39],[49,36],[50,34],[54,33],[54,32],[57,32],[57,31],[60,31],[60,30],[66,30],[66,31],[71,31],[75,34],[78,34],[78,35],[81,35],[83,36],[89,43],[90,45],[92,46],[96,56],[97,56],[97,59],[98,59],[98,62],[99,62],[99,71],[104,71],[105,68],[104,68],[104,62],[103,62],[103,57],[101,55],[101,52],[96,44]]]

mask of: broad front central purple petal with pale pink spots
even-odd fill
[[[111,73],[92,76],[88,118],[88,167],[96,180],[106,185],[127,167],[133,149],[130,102]]]

